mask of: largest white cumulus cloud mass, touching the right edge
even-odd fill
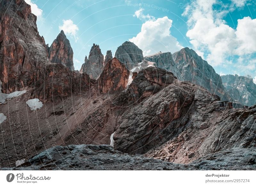
[[[213,13],[212,6],[216,3],[216,0],[197,0],[183,12],[191,27],[186,35],[195,50],[204,53],[204,58],[212,66],[231,63],[234,55],[244,56],[256,52],[256,19],[238,19],[237,27],[233,29],[222,19],[222,10],[214,10],[217,13]]]

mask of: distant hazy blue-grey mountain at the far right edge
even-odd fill
[[[252,77],[235,75],[222,75],[223,85],[229,95],[243,105],[256,104],[256,85]]]

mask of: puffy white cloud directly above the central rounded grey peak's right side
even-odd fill
[[[143,55],[156,52],[175,52],[183,48],[175,37],[171,35],[172,20],[168,17],[149,20],[142,24],[141,31],[129,41],[135,43]]]

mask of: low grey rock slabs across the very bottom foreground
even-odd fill
[[[20,166],[2,170],[255,170],[251,150],[230,149],[202,157],[190,164],[128,155],[110,145],[55,146]]]

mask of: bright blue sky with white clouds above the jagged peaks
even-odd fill
[[[25,0],[51,43],[61,30],[80,70],[93,45],[103,55],[125,41],[143,55],[197,52],[220,75],[250,75],[256,82],[256,0]]]

